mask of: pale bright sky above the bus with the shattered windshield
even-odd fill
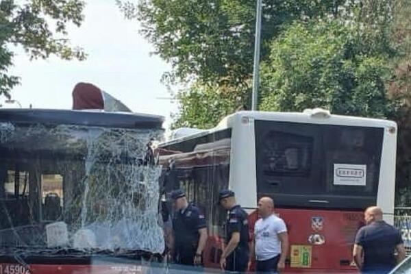
[[[78,82],[90,82],[121,100],[133,112],[158,114],[171,123],[177,103],[169,99],[162,73],[171,66],[157,55],[139,33],[138,21],[123,17],[114,0],[87,0],[82,26],[69,28],[69,39],[88,54],[85,61],[30,61],[17,49],[10,73],[21,77],[12,91],[23,108],[71,109],[71,92]],[[4,100],[0,99],[0,103]],[[17,104],[5,104],[18,107]]]

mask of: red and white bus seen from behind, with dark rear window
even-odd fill
[[[205,212],[210,234],[203,260],[219,267],[229,188],[258,219],[260,197],[275,200],[288,226],[288,272],[356,271],[352,246],[363,210],[377,205],[393,223],[397,125],[392,121],[302,113],[237,112],[213,129],[158,146],[162,191],[186,190]]]

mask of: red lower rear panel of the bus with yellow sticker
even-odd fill
[[[277,209],[288,229],[290,247],[286,273],[304,271],[358,271],[352,249],[356,232],[364,225],[362,212]],[[249,215],[250,233],[257,212]]]

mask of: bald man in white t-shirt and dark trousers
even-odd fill
[[[262,197],[258,201],[258,219],[254,226],[254,240],[250,258],[256,258],[258,273],[277,273],[285,267],[288,252],[287,227],[274,214],[274,201]],[[249,266],[251,265],[251,259]]]

